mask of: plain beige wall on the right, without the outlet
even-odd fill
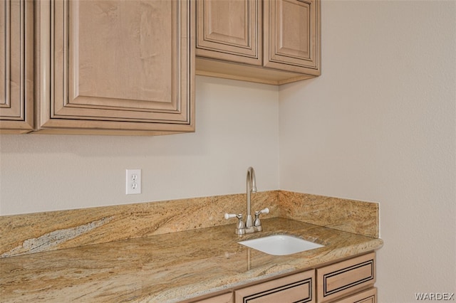
[[[323,74],[279,91],[279,187],[380,202],[379,302],[456,292],[456,1],[322,20]]]

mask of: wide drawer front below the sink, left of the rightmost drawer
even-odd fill
[[[234,292],[234,302],[315,302],[315,272],[309,270]]]

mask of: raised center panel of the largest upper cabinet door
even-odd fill
[[[97,104],[98,98],[175,101],[170,79],[176,67],[169,67],[175,65],[176,37],[165,39],[173,36],[176,23],[172,1],[73,1],[71,6],[73,102],[78,97],[87,98],[81,104]]]

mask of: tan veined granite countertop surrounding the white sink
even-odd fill
[[[383,240],[285,218],[264,231],[234,224],[0,259],[1,302],[179,302],[381,248]],[[274,256],[239,240],[288,233],[325,245]]]

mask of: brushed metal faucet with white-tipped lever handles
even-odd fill
[[[262,209],[261,211],[255,211],[255,220],[253,221],[252,213],[250,211],[250,201],[251,201],[250,194],[257,192],[257,181],[255,179],[255,171],[254,171],[253,167],[249,167],[249,169],[247,169],[246,187],[247,187],[247,218],[245,220],[245,223],[242,221],[242,213],[239,213],[238,215],[225,213],[225,219],[229,219],[229,218],[238,219],[236,230],[234,231],[234,233],[236,233],[237,235],[244,235],[245,233],[254,233],[254,232],[263,230],[263,228],[261,227],[261,222],[259,220],[259,215],[261,215],[261,213],[269,213],[269,208],[267,208],[267,207]],[[253,223],[252,223],[252,221],[253,221]]]

